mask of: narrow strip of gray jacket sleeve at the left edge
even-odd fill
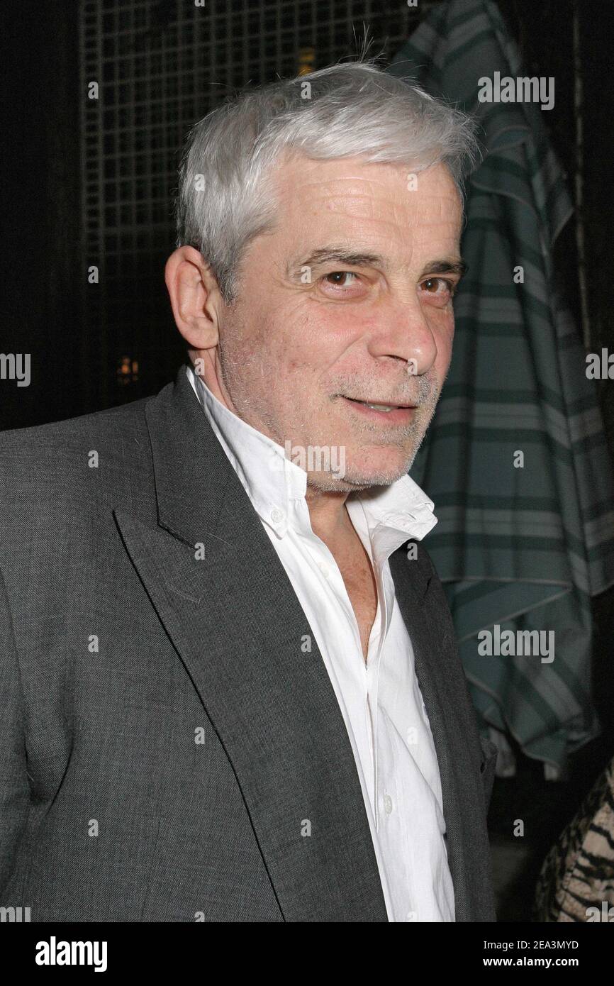
[[[0,904],[30,805],[24,696],[13,621],[0,570]]]

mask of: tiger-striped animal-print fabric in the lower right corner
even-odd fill
[[[544,860],[534,920],[614,923],[614,759]]]

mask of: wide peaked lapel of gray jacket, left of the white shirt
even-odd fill
[[[146,413],[159,527],[122,510],[117,525],[231,761],[281,912],[287,921],[386,921],[321,655],[183,367]]]

